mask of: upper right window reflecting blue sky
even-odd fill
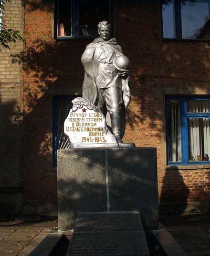
[[[163,38],[210,39],[210,0],[162,0]]]

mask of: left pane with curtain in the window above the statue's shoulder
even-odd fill
[[[71,36],[71,1],[58,1],[58,36]]]

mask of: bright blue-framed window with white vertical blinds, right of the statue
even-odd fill
[[[167,162],[210,163],[210,99],[167,97]]]

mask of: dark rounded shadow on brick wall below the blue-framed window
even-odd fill
[[[187,207],[189,193],[190,190],[185,185],[178,168],[176,166],[167,168],[163,177],[159,211],[182,214]]]

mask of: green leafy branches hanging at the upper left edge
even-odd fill
[[[16,43],[17,41],[19,40],[24,40],[24,38],[22,37],[22,35],[20,35],[19,31],[18,30],[14,30],[12,28],[7,28],[5,25],[4,25],[4,18],[3,18],[3,15],[4,15],[4,6],[5,6],[5,3],[11,3],[10,0],[0,0],[0,14],[1,14],[1,17],[2,17],[2,21],[0,23],[0,51],[1,51],[1,48],[7,48],[9,49],[9,43]]]

